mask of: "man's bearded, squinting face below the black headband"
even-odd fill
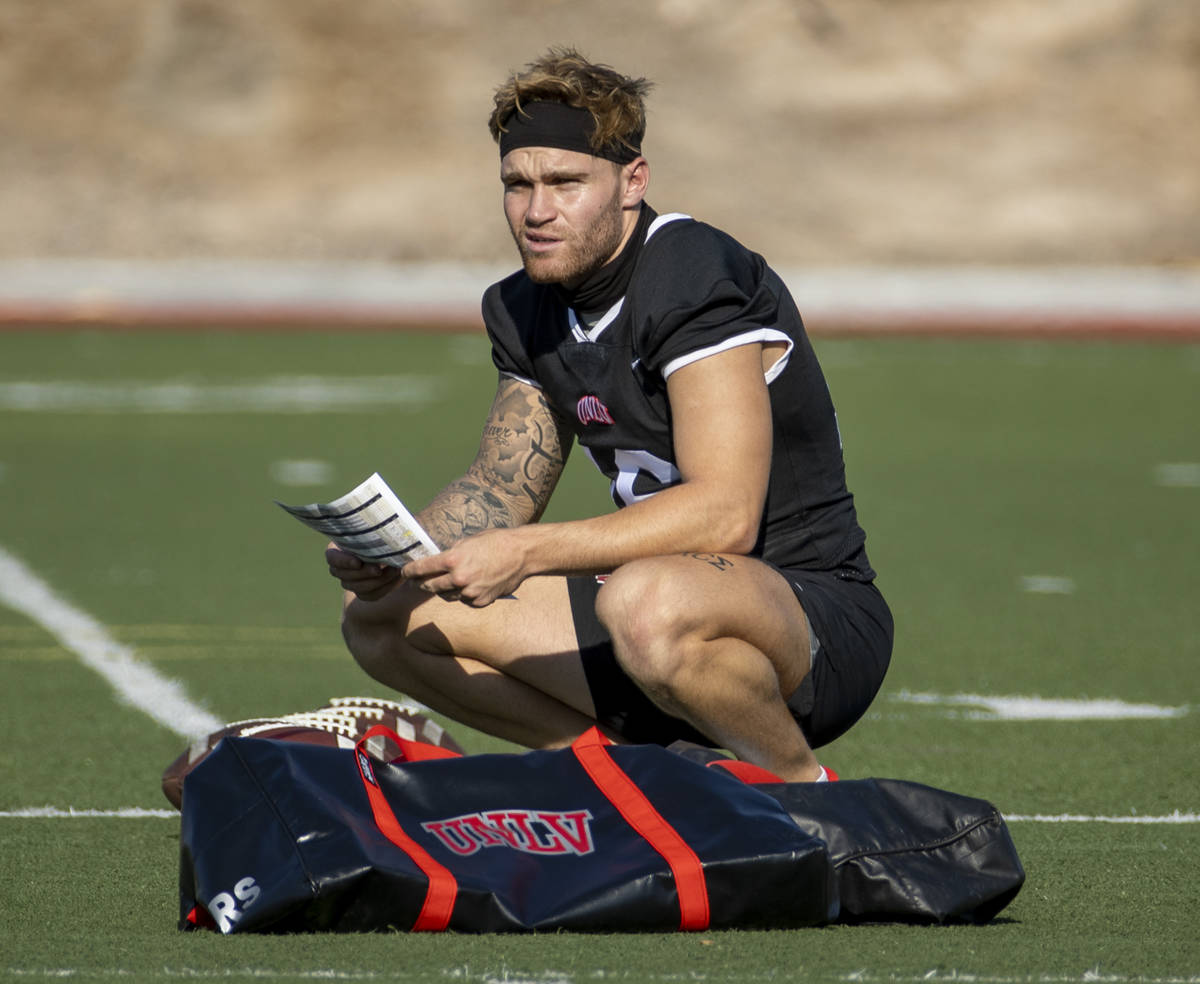
[[[530,280],[574,287],[620,252],[637,221],[636,209],[625,208],[625,172],[557,148],[517,148],[504,156],[504,215]]]

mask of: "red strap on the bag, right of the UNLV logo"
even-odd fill
[[[679,896],[679,929],[708,929],[708,886],[696,852],[667,823],[637,784],[613,762],[599,728],[590,728],[571,745],[575,757],[617,811],[670,865]]]

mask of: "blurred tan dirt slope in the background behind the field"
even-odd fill
[[[776,264],[1200,260],[1196,0],[0,0],[0,259],[510,262],[491,90],[554,43]]]

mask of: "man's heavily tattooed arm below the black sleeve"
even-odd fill
[[[570,449],[571,432],[541,391],[500,377],[475,461],[418,520],[443,548],[485,529],[536,522]]]

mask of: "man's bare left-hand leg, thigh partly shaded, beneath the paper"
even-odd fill
[[[342,632],[374,679],[487,734],[560,748],[596,724],[563,578],[485,608],[410,584],[378,601],[347,593]]]

